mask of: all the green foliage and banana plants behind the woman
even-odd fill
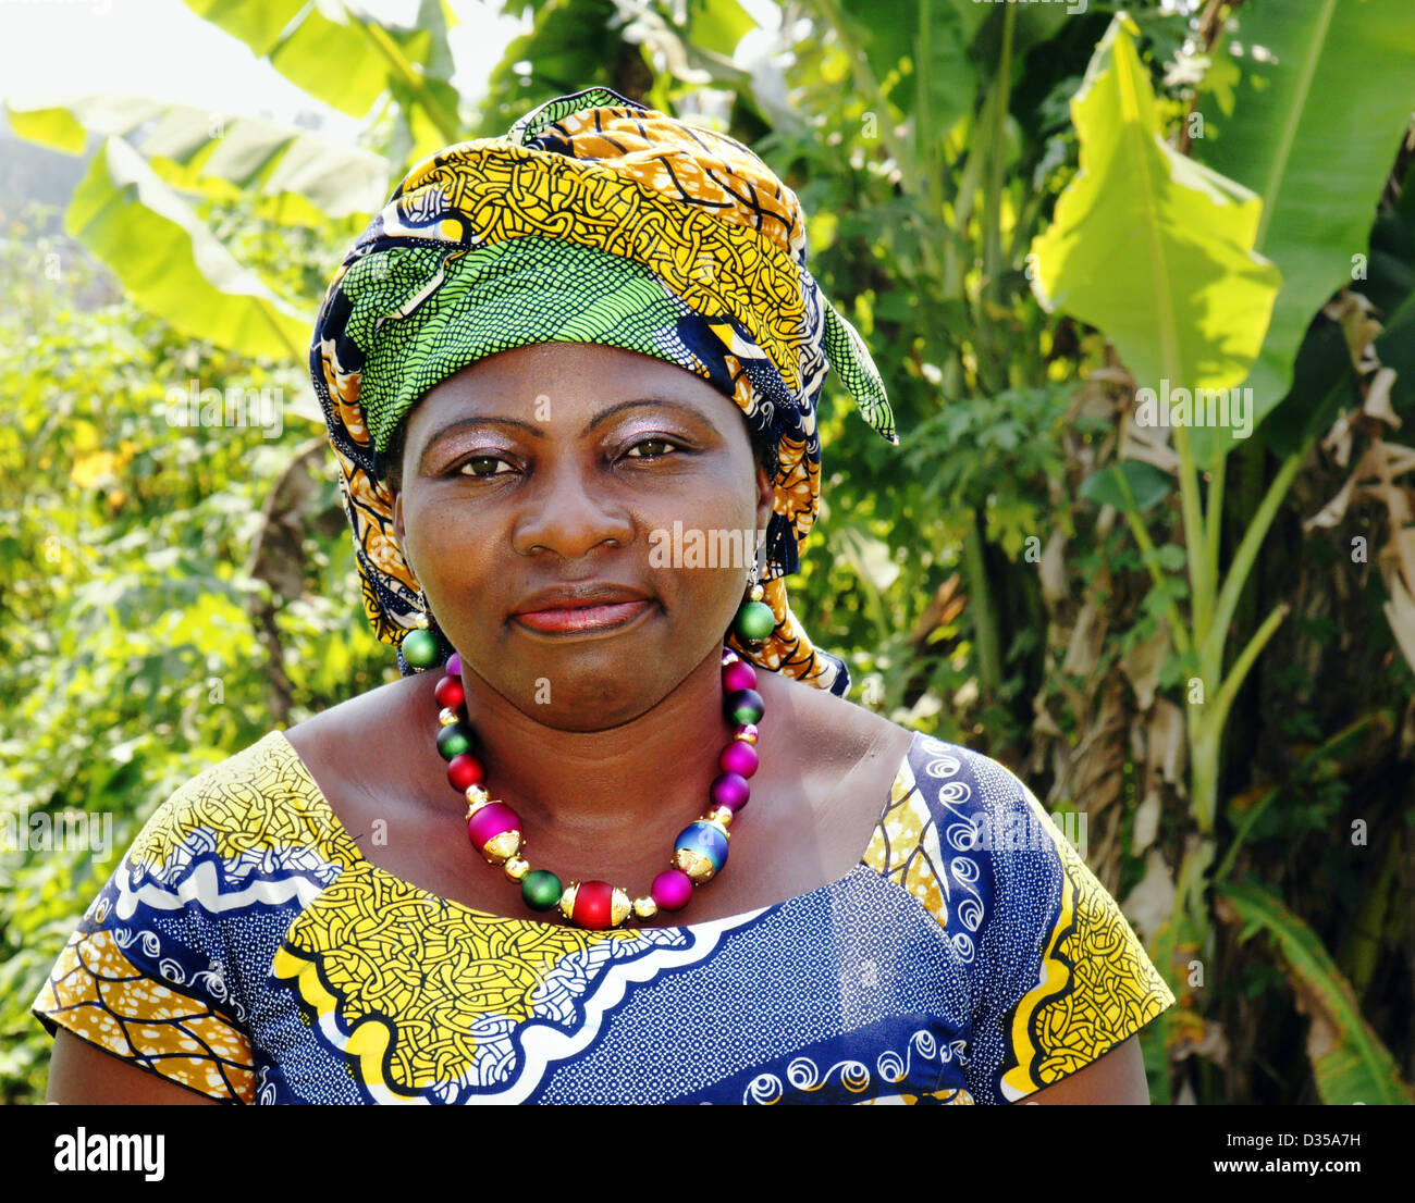
[[[42,1088],[48,1038],[25,1008],[146,816],[277,721],[393,674],[327,458],[311,461],[300,537],[255,554],[263,506],[324,434],[304,348],[338,254],[422,154],[604,83],[727,115],[801,196],[811,270],[884,370],[897,450],[859,437],[828,379],[821,513],[791,582],[855,697],[1087,813],[1122,900],[1149,882],[1139,817],[1146,792],[1160,800],[1149,851],[1179,896],[1152,956],[1176,994],[1176,964],[1242,971],[1146,1031],[1152,1096],[1187,1084],[1223,1101],[1196,1057],[1170,1056],[1206,1025],[1245,1023],[1231,1043],[1252,1062],[1230,1084],[1266,1080],[1261,1062],[1327,1101],[1407,1098],[1408,985],[1388,984],[1411,966],[1382,917],[1399,881],[1363,875],[1344,831],[1354,817],[1405,830],[1390,855],[1408,841],[1411,674],[1374,564],[1350,588],[1344,543],[1298,533],[1343,479],[1310,461],[1313,437],[1367,396],[1360,345],[1319,317],[1357,252],[1370,270],[1348,291],[1381,315],[1371,345],[1398,372],[1395,410],[1415,414],[1415,187],[1375,209],[1411,109],[1398,6],[1244,3],[1225,10],[1235,33],[1211,6],[1190,23],[1157,0],[1075,16],[811,0],[785,52],[749,68],[732,58],[753,25],[736,0],[654,0],[634,21],[610,0],[514,0],[532,28],[468,124],[436,0],[408,27],[342,3],[190,0],[364,119],[361,147],[243,117],[212,130],[158,102],[11,102],[25,137],[102,143],[69,237],[10,215],[0,243],[3,806],[110,814],[113,831],[105,857],[0,855],[3,1096]],[[1317,8],[1332,20],[1309,20]],[[1133,387],[1162,376],[1266,380],[1271,416],[1247,447],[1223,444],[1227,459],[1199,430],[1176,431],[1167,459],[1136,450]],[[283,423],[174,427],[168,401],[192,382],[275,390]],[[1283,623],[1293,608],[1302,621]],[[1187,773],[1156,763],[1166,714]],[[1232,885],[1240,872],[1266,892]],[[1274,934],[1268,958],[1213,922],[1213,893]],[[1290,1015],[1285,973],[1329,1042],[1310,1062],[1262,1043]],[[1234,1101],[1259,1093],[1240,1088]]]

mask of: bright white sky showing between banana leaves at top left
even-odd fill
[[[361,7],[408,20],[417,3],[364,0]],[[495,0],[453,0],[451,7],[461,18],[449,34],[453,83],[475,98],[531,21],[502,17]],[[0,0],[0,99],[55,93],[146,96],[277,122],[313,109],[328,119],[324,134],[335,140],[351,140],[358,127],[183,0]]]

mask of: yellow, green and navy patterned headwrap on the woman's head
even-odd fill
[[[815,522],[826,372],[870,427],[899,438],[869,351],[805,259],[801,205],[757,155],[608,88],[419,163],[340,264],[310,346],[378,638],[400,645],[422,614],[385,483],[398,424],[484,356],[604,344],[702,376],[775,448],[761,584],[777,625],[761,645],[727,642],[843,697],[845,663],[811,643],[782,580]],[[398,659],[413,671],[402,649]]]

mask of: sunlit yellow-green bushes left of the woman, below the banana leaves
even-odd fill
[[[42,219],[0,242],[3,804],[16,820],[108,816],[110,844],[25,847],[21,821],[20,847],[0,850],[6,1101],[42,1086],[50,1039],[27,1008],[116,857],[177,786],[270,728],[253,621],[269,585],[241,565],[272,481],[317,433],[289,407],[275,438],[170,426],[168,390],[191,380],[282,399],[307,386],[144,314],[81,247],[33,237]],[[303,712],[389,676],[342,601],[357,597],[347,529],[311,532],[310,551],[307,589],[277,618]]]

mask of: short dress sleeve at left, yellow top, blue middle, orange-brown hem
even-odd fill
[[[252,1101],[265,970],[341,871],[316,802],[279,731],[185,780],[83,913],[33,1012],[200,1094]]]

